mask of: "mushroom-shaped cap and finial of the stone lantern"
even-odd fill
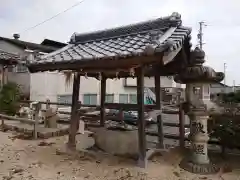
[[[191,52],[191,59],[189,65],[184,68],[178,75],[174,77],[177,83],[212,83],[221,82],[224,79],[224,73],[215,72],[213,68],[209,66],[203,66],[205,52],[196,47]]]

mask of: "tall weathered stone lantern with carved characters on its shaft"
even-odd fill
[[[178,83],[186,84],[186,114],[190,119],[191,155],[180,167],[192,173],[209,174],[218,171],[208,158],[208,110],[211,108],[210,84],[224,79],[224,74],[203,66],[205,53],[198,47],[191,52],[189,66],[175,76]]]

